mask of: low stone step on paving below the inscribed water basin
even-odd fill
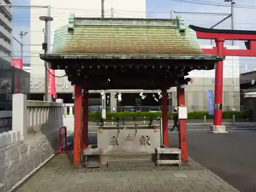
[[[151,160],[137,161],[108,161],[108,168],[131,168],[131,167],[154,167],[155,163]]]

